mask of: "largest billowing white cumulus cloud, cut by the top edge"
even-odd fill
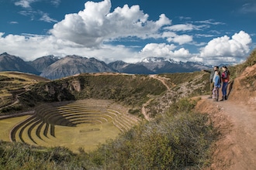
[[[113,12],[110,9],[110,0],[86,2],[83,11],[65,15],[50,33],[58,39],[93,47],[109,39],[128,36],[150,38],[162,26],[171,23],[164,14],[156,22],[148,20],[148,15],[140,10],[139,5],[123,5],[123,8],[117,7]]]

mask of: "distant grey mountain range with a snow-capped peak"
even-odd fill
[[[157,73],[185,73],[198,70],[208,70],[212,66],[195,62],[175,62],[164,57],[148,57],[139,63],[125,63],[117,60],[105,63],[95,58],[82,56],[42,56],[33,61],[26,62],[19,56],[9,53],[0,54],[0,71],[19,71],[33,73],[50,80],[78,73],[133,73],[133,74],[157,74]]]

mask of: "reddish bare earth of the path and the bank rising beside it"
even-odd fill
[[[199,100],[196,110],[209,114],[220,131],[212,147],[212,165],[207,169],[256,169],[256,65],[248,67],[234,80],[228,100],[215,102],[207,97]],[[221,92],[220,92],[221,96]]]

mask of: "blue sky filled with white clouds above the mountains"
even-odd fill
[[[236,64],[255,23],[255,0],[0,0],[0,53]]]

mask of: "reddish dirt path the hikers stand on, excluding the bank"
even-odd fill
[[[209,169],[256,169],[256,107],[202,97],[196,109],[208,113],[221,134]]]

